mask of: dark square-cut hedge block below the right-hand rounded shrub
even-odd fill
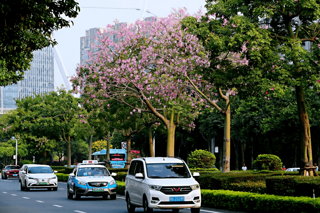
[[[267,194],[293,196],[294,176],[271,176],[266,177]]]

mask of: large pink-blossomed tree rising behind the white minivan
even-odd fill
[[[96,38],[96,52],[89,53],[72,78],[76,92],[90,103],[110,100],[124,103],[134,113],[151,113],[167,128],[167,156],[174,156],[178,125],[191,131],[201,100],[181,78],[198,78],[197,70],[209,65],[207,53],[196,36],[181,28],[184,10],[167,18],[136,21],[111,29]],[[198,84],[198,82],[196,82]]]

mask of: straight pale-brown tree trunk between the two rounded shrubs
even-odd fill
[[[226,100],[226,105],[229,100]],[[230,105],[224,113],[223,159],[222,173],[230,171]]]

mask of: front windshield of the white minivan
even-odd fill
[[[190,178],[190,173],[184,164],[146,164],[149,178]]]

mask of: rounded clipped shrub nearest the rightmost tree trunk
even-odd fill
[[[266,154],[258,155],[253,165],[258,170],[276,171],[281,169],[282,162],[278,156]]]

